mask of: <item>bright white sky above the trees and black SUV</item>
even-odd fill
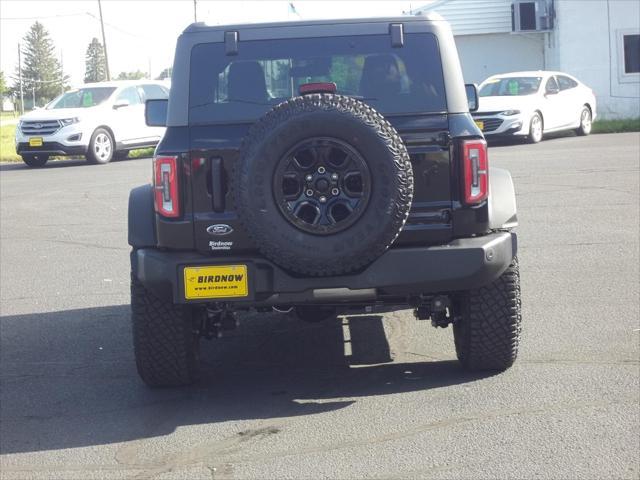
[[[401,15],[420,1],[196,0],[198,21],[211,25],[318,18]],[[170,67],[178,35],[194,21],[193,0],[102,0],[109,69],[142,70],[152,78]],[[18,44],[37,20],[49,31],[71,84],[84,78],[85,53],[93,37],[102,42],[97,0],[0,0],[0,69],[9,85],[18,64]]]

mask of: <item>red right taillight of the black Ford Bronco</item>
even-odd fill
[[[464,173],[464,203],[475,205],[489,195],[489,161],[487,142],[464,140],[462,142],[462,169]]]

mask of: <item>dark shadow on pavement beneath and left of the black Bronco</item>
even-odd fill
[[[230,336],[203,343],[198,385],[166,390],[148,389],[137,377],[128,305],[5,316],[0,328],[3,454],[151,438],[182,425],[318,414],[358,397],[486,376],[453,361],[393,363],[376,315],[305,324],[247,314]]]

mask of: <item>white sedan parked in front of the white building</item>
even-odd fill
[[[596,118],[593,90],[560,72],[513,72],[487,78],[479,87],[473,113],[487,139],[525,137],[531,143],[545,133],[575,130],[589,135]]]

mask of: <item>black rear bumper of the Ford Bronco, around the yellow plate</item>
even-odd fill
[[[131,253],[133,274],[156,295],[175,303],[234,302],[246,306],[367,303],[383,298],[468,290],[498,278],[517,251],[512,232],[454,240],[431,247],[394,248],[361,272],[298,277],[259,256],[212,257],[142,248]],[[247,265],[249,295],[186,300],[186,266]],[[240,305],[238,305],[240,306]]]

